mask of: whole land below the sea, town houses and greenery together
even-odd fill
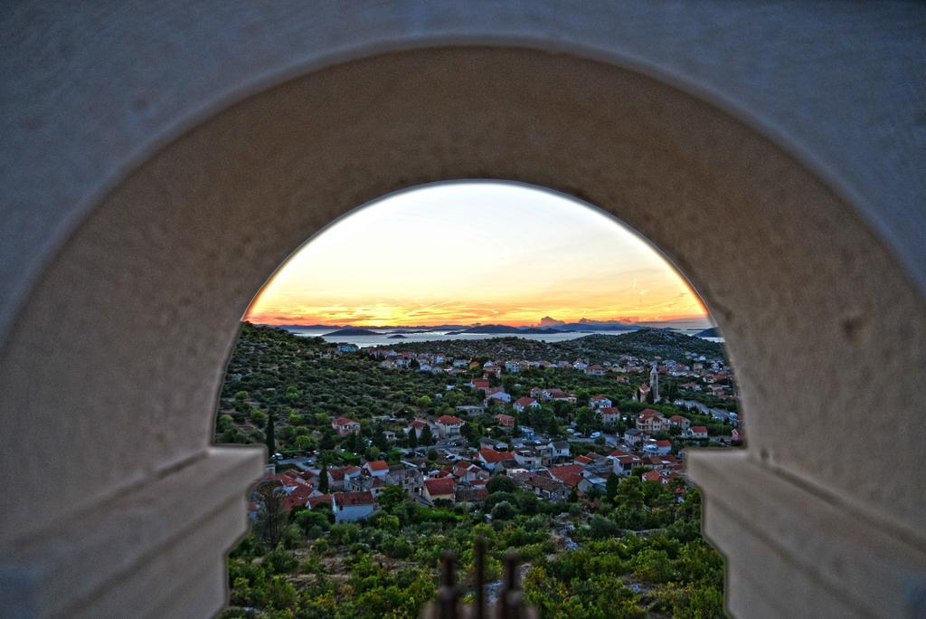
[[[685,472],[689,449],[744,440],[716,343],[361,348],[244,324],[216,439],[269,453],[224,617],[418,616],[444,552],[471,573],[476,537],[490,581],[516,553],[543,616],[720,616],[722,560]]]

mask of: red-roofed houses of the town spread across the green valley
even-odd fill
[[[376,512],[377,497],[388,486],[399,486],[410,498],[427,505],[479,504],[488,496],[486,483],[497,474],[506,475],[517,486],[547,501],[570,497],[575,500],[590,492],[604,494],[612,475],[623,478],[639,474],[644,482],[663,486],[676,482],[677,491],[682,493],[685,448],[711,441],[720,445],[742,441],[743,429],[736,413],[708,412],[715,422],[723,423],[724,434],[712,433],[697,421],[704,416],[703,405],[698,407],[698,402],[683,398],[667,402],[660,393],[661,375],[676,379],[680,391],[734,398],[729,368],[722,360],[707,360],[703,355],[689,354],[682,360],[620,355],[601,364],[583,359],[571,363],[504,359],[480,362],[454,359],[436,350],[416,353],[385,347],[360,349],[346,343],[335,344],[334,348],[342,355],[367,355],[390,370],[448,377],[478,375],[461,385],[448,384],[446,389],[469,389],[482,398],[480,405],[458,406],[457,414],[416,417],[404,425],[394,416],[370,419],[370,423],[394,428],[383,431],[390,445],[397,446],[401,453],[399,461],[392,464],[381,459],[329,468],[321,467],[311,456],[287,459],[278,454],[277,461],[293,468],[271,474],[268,479],[279,482],[287,506],[313,509],[324,505],[332,510],[336,522],[355,522]],[[607,376],[616,384],[630,385],[634,403],[661,404],[661,411],[644,408],[622,412],[607,395],[595,394],[580,402],[581,396],[560,388],[521,383],[517,384],[518,391],[528,395],[513,399],[498,385],[504,376],[517,377],[528,370],[551,368]],[[626,393],[626,389],[616,391]],[[442,395],[435,394],[438,398]],[[569,415],[562,432],[551,433],[530,424],[543,417],[544,407],[559,403],[577,411]],[[583,416],[582,405],[591,414]],[[669,414],[665,411],[668,406],[678,411]],[[464,432],[473,421],[480,430],[486,430],[484,435]],[[346,417],[332,420],[332,430],[339,437],[357,435],[361,428],[361,423]],[[582,450],[589,442],[596,449]],[[367,443],[371,440],[367,439]],[[437,459],[429,460],[427,452],[431,450],[437,452]],[[324,480],[319,479],[322,474]]]

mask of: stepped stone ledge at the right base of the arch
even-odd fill
[[[926,613],[921,540],[895,536],[842,497],[809,491],[746,452],[702,450],[689,465],[706,497],[705,534],[735,575],[733,614]]]

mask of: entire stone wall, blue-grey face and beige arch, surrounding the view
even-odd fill
[[[18,550],[32,540],[212,453],[237,323],[290,252],[370,199],[458,178],[548,186],[648,236],[727,338],[753,478],[838,504],[850,537],[871,527],[879,549],[924,556],[920,441],[902,431],[919,427],[926,367],[922,8],[38,6],[2,26],[0,68],[18,78],[0,145],[0,414],[16,437],[0,470],[17,499],[0,550],[18,557],[4,582],[74,559]],[[409,50],[448,44],[468,46]],[[746,521],[761,502],[738,503],[698,461],[708,531],[716,504],[759,540],[712,532],[731,549],[735,612],[834,595],[832,578],[783,600],[755,586],[745,563],[762,557],[782,587],[790,566],[827,568],[762,541]],[[38,470],[56,471],[59,509]],[[243,516],[248,476],[216,482],[214,522]],[[211,608],[219,548],[169,582],[172,549],[197,535],[169,505],[194,492],[152,499],[174,541],[120,542],[152,553],[144,575],[126,565],[119,586],[82,582],[92,602],[31,608],[138,609],[132,592],[158,574],[169,587],[145,613]],[[889,573],[875,582],[895,586]],[[26,608],[48,603],[42,582]],[[846,608],[870,613],[870,598]]]

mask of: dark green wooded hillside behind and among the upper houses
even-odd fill
[[[615,340],[624,342],[626,347],[624,344],[615,344]],[[469,340],[465,343],[441,342],[440,347],[449,356],[469,354],[476,360],[484,361],[496,358],[492,353],[499,355],[506,350],[510,352],[512,342],[517,352],[522,347],[525,353],[549,352],[567,345],[582,351],[569,350],[563,353],[560,350],[557,353],[569,360],[574,360],[580,354],[586,358],[606,354],[608,358],[613,358],[622,353],[667,354],[667,350],[685,343],[695,347],[694,351],[704,348],[706,352],[712,352],[715,358],[722,358],[722,349],[718,344],[665,331],[633,332],[619,336],[588,335],[556,344],[502,337]],[[460,350],[450,345],[458,345]],[[434,347],[434,343],[426,342],[403,344],[394,348],[425,351],[433,350]],[[590,350],[599,352],[590,355]],[[629,352],[631,350],[636,352]],[[531,354],[524,357],[546,358]],[[384,370],[376,360],[366,355],[335,354],[332,347],[321,338],[298,337],[282,329],[244,324],[222,386],[216,441],[264,443],[268,416],[272,415],[278,448],[329,449],[334,447],[331,420],[343,415],[362,423],[364,436],[376,439],[377,447],[385,452],[389,446],[380,435],[390,426],[388,418],[396,418],[391,425],[393,429],[398,429],[404,426],[404,421],[416,415],[461,415],[456,411],[457,406],[481,404],[482,398],[474,391],[466,388],[446,389],[448,383],[461,387],[468,380],[469,376],[454,378],[432,373]],[[706,393],[684,391],[678,386],[680,382],[674,379],[664,381],[667,400],[675,397],[689,398],[704,402],[707,406],[736,411],[735,400],[720,400]],[[492,379],[492,383],[503,385],[512,398],[528,395],[531,386],[558,387],[576,395],[579,400],[575,406],[557,402],[529,412],[520,420],[525,425],[537,425],[544,430],[554,424],[561,428],[582,411],[587,416],[588,399],[594,395],[611,398],[621,411],[628,413],[646,407],[669,414],[674,412],[666,405],[633,402],[632,385],[618,383],[612,376],[590,376],[561,369],[529,370],[517,377],[507,375],[501,379]],[[730,433],[729,426],[707,415],[683,414],[689,416],[693,423],[706,425],[712,436]],[[467,417],[466,414],[462,416]],[[556,421],[551,421],[554,419]],[[622,431],[625,428],[618,424],[614,429]]]

